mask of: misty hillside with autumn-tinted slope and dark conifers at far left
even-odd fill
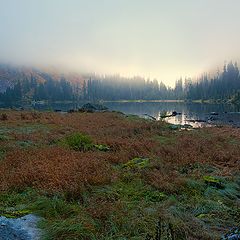
[[[79,74],[0,65],[0,102],[3,103],[73,100],[82,85],[83,77]]]

